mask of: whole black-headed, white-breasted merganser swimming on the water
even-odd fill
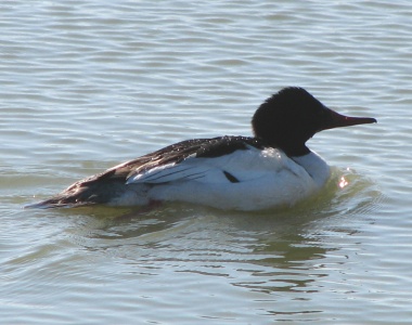
[[[322,130],[373,122],[340,115],[305,89],[288,87],[256,110],[253,138],[182,141],[78,181],[30,207],[183,202],[247,211],[293,205],[322,188],[331,174],[306,142]]]

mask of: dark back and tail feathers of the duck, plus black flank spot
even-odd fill
[[[137,159],[115,166],[106,171],[80,180],[56,196],[33,205],[31,207],[80,206],[105,204],[127,191],[126,181],[130,174],[139,174],[152,168],[167,164],[179,164],[189,156],[215,158],[246,150],[247,145],[262,148],[265,144],[255,138],[220,136],[214,139],[194,139],[178,142]],[[237,180],[227,174],[231,182]]]

